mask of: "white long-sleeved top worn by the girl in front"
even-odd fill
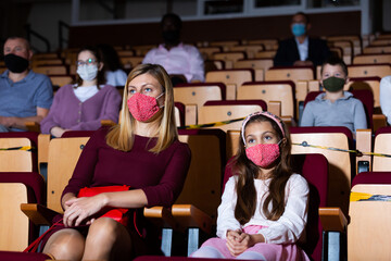
[[[228,229],[241,229],[248,225],[267,226],[257,233],[265,237],[269,244],[294,244],[305,240],[305,225],[308,210],[308,184],[299,174],[292,174],[285,189],[285,212],[277,221],[267,220],[262,213],[263,201],[268,192],[270,179],[254,179],[256,189],[256,209],[251,220],[243,226],[235,219],[237,202],[237,176],[228,179],[218,207],[217,236],[226,238]]]

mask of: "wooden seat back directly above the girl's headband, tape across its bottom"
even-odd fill
[[[199,124],[207,124],[236,119],[244,119],[247,115],[266,111],[267,105],[263,100],[242,100],[242,101],[207,101],[200,108]],[[214,126],[225,132],[228,129],[240,129],[242,121]]]

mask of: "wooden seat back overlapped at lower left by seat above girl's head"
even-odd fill
[[[294,83],[281,82],[253,82],[244,83],[238,89],[238,100],[260,99],[266,103],[281,102],[281,116],[295,117]]]

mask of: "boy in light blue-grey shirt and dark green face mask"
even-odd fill
[[[363,103],[343,90],[348,83],[346,64],[338,58],[329,58],[321,65],[320,74],[326,91],[305,105],[301,126],[345,126],[353,134],[367,128]]]

